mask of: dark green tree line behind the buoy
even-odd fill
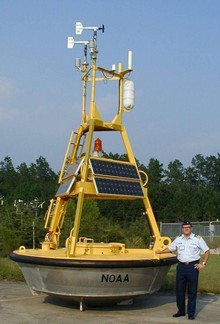
[[[126,155],[104,154],[107,158],[127,160]],[[147,173],[148,195],[157,222],[211,221],[220,218],[220,154],[196,155],[189,167],[179,160],[167,168],[157,159],[148,165],[137,161]],[[39,246],[46,233],[44,216],[49,201],[58,189],[58,174],[40,156],[29,166],[14,167],[7,156],[0,162],[0,249],[4,254],[21,244]],[[71,200],[60,244],[74,222],[75,202]],[[140,200],[86,201],[80,235],[99,241],[125,241],[130,246],[149,244],[150,232]]]

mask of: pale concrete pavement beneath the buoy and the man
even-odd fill
[[[157,293],[138,297],[132,305],[79,305],[46,295],[33,296],[26,283],[0,281],[0,323],[69,324],[69,323],[190,323],[188,317],[173,318],[175,296]],[[197,315],[193,323],[219,323],[220,296],[198,295]]]

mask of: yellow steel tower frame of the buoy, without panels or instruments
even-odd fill
[[[82,67],[82,122],[80,127],[77,130],[76,137],[74,143],[72,143],[73,135],[71,135],[70,141],[67,146],[67,152],[64,158],[64,163],[61,169],[61,174],[59,178],[59,182],[62,183],[62,177],[64,174],[64,169],[66,164],[71,164],[77,159],[77,150],[79,147],[80,139],[83,135],[87,134],[87,144],[85,150],[85,158],[83,168],[81,169],[81,178],[77,180],[74,184],[73,189],[69,193],[68,196],[65,197],[57,197],[55,209],[53,209],[53,214],[51,216],[51,221],[49,225],[49,218],[51,215],[50,207],[48,211],[48,215],[45,222],[45,227],[49,229],[49,244],[50,248],[57,249],[59,243],[59,235],[60,230],[62,228],[62,224],[65,217],[65,210],[67,206],[68,199],[71,197],[77,198],[77,206],[76,206],[76,213],[75,213],[75,220],[74,220],[74,227],[70,232],[70,236],[66,241],[66,249],[67,249],[67,256],[74,257],[76,254],[76,247],[78,242],[78,235],[79,235],[79,228],[80,228],[80,221],[82,216],[82,208],[83,208],[83,201],[85,197],[95,198],[97,199],[96,191],[94,185],[88,181],[88,172],[89,172],[89,159],[90,159],[90,152],[92,149],[92,140],[93,134],[95,131],[117,131],[120,132],[121,138],[128,156],[128,161],[131,164],[136,165],[135,156],[133,154],[130,141],[126,132],[125,127],[122,124],[122,116],[124,113],[124,109],[122,106],[122,99],[123,99],[123,81],[126,79],[126,74],[130,73],[131,70],[122,70],[122,65],[119,64],[118,72],[110,71],[107,69],[103,69],[101,67],[97,67],[97,52],[94,52],[92,55],[92,64],[91,67],[88,68],[87,63],[83,63]],[[103,77],[98,77],[97,72],[102,73]],[[89,74],[91,73],[91,78]],[[119,82],[119,107],[118,111],[113,118],[112,121],[106,122],[102,120],[101,115],[99,114],[98,108],[96,106],[95,101],[95,94],[96,94],[96,82],[106,80],[106,75],[110,77],[108,80],[110,81],[118,81]],[[87,91],[87,83],[91,82],[91,99],[89,105],[89,111],[86,111],[86,91]],[[70,145],[73,144],[72,152],[70,156],[68,156],[68,152],[70,150]],[[136,165],[137,167],[137,165]],[[161,237],[152,208],[148,198],[147,189],[144,188],[142,184],[142,189],[144,192],[144,197],[141,198],[143,200],[143,205],[145,207],[145,216],[148,219],[149,225],[151,227],[152,236],[154,238],[154,245],[153,251],[156,256],[156,249],[162,248],[167,246],[170,243],[170,238],[168,237]],[[102,197],[102,199],[109,199],[109,197]],[[118,197],[117,197],[118,198]],[[114,199],[117,199],[114,197]],[[129,199],[129,198],[128,198]],[[52,202],[54,204],[54,202]],[[48,240],[47,235],[47,240]]]

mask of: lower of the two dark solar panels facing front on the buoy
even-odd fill
[[[105,195],[143,197],[140,182],[94,177],[96,191]]]

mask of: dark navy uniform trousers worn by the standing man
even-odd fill
[[[178,263],[176,271],[176,303],[179,313],[186,313],[185,295],[188,291],[188,316],[194,316],[196,311],[196,297],[198,288],[199,271],[194,268],[199,261],[189,264]]]

